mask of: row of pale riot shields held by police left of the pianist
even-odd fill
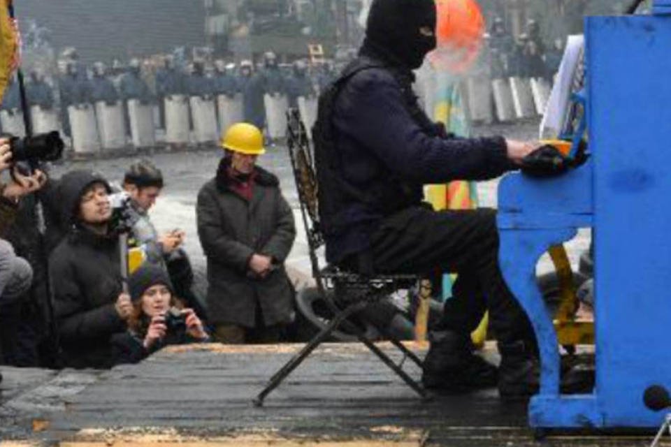
[[[244,121],[243,98],[235,96],[171,95],[164,98],[165,128],[159,128],[159,107],[138,99],[98,101],[68,105],[70,138],[74,156],[122,155],[137,149],[163,146],[202,147],[215,145],[231,124]],[[282,140],[286,131],[286,95],[264,96],[267,135]],[[298,98],[298,108],[311,128],[316,118],[315,97]],[[57,110],[40,105],[30,107],[36,133],[62,129]],[[125,119],[127,117],[127,119]],[[190,125],[189,123],[192,123]],[[18,108],[0,111],[3,132],[24,136],[22,112]]]

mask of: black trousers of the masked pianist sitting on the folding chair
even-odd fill
[[[489,309],[499,342],[533,340],[526,313],[498,266],[494,210],[403,210],[373,234],[370,255],[375,272],[427,274],[438,269],[458,274],[437,330],[468,334]]]

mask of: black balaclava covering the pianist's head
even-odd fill
[[[414,70],[435,48],[435,21],[433,0],[373,0],[363,45],[391,54]],[[431,29],[433,35],[424,36],[421,27]]]

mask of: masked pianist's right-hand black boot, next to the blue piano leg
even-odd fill
[[[524,399],[538,393],[540,363],[534,346],[522,340],[498,344],[498,393],[503,399]]]

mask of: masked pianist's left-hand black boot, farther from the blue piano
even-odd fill
[[[431,332],[429,340],[421,375],[425,388],[458,393],[496,386],[496,367],[473,353],[468,335]]]

